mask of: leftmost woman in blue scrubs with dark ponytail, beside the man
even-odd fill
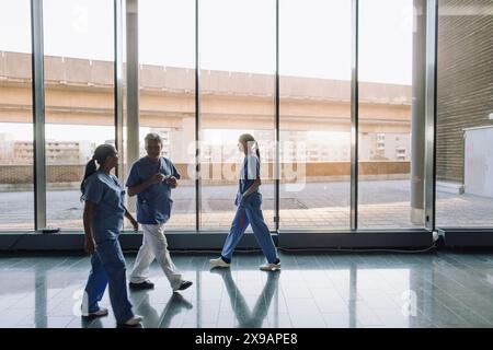
[[[96,168],[96,163],[100,165]],[[111,144],[101,144],[85,166],[81,183],[85,201],[83,223],[85,250],[91,254],[91,273],[82,301],[82,316],[106,316],[107,310],[100,307],[106,285],[118,326],[137,327],[141,317],[134,314],[127,296],[126,266],[118,234],[124,215],[138,229],[136,220],[124,206],[125,191],[118,178],[111,174],[118,164],[118,154]]]

